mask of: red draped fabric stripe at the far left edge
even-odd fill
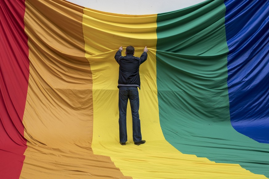
[[[29,79],[24,0],[0,2],[0,176],[19,178],[27,145],[22,118]]]

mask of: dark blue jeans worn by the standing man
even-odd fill
[[[127,142],[126,128],[126,110],[128,99],[130,100],[132,111],[132,137],[134,142],[142,140],[141,126],[139,119],[139,95],[137,87],[120,86],[119,89],[119,126],[120,126],[120,142]]]

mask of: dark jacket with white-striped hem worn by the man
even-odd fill
[[[134,57],[132,54],[121,56],[118,50],[115,59],[120,65],[118,88],[120,86],[137,86],[140,89],[139,66],[147,60],[148,54],[143,52],[141,57]]]

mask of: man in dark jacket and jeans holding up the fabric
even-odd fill
[[[119,126],[120,126],[120,144],[126,145],[127,142],[127,128],[126,128],[126,110],[128,99],[130,100],[132,111],[132,137],[135,145],[145,144],[142,140],[141,126],[139,119],[139,95],[140,76],[139,67],[147,60],[148,49],[144,48],[141,57],[134,57],[134,48],[132,46],[126,47],[126,56],[121,56],[122,46],[116,52],[115,59],[120,65],[119,68]]]

